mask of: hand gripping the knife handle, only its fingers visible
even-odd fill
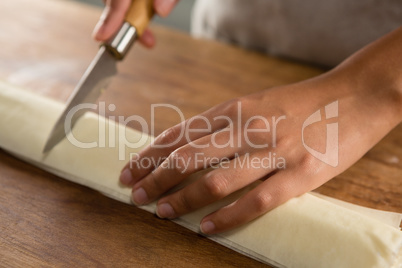
[[[97,41],[106,41],[116,33],[123,23],[131,0],[106,0],[105,2],[106,7],[93,32],[93,36]],[[156,14],[166,17],[177,2],[178,0],[155,0],[154,9]],[[155,37],[149,29],[145,30],[139,40],[149,48],[155,45]]]

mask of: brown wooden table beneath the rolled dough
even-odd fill
[[[0,79],[65,101],[97,51],[101,10],[71,1],[0,2]],[[170,103],[186,117],[224,100],[322,70],[153,26],[158,45],[136,46],[101,97],[109,115]],[[157,114],[156,134],[179,120]],[[132,127],[138,127],[132,125]],[[317,191],[402,212],[402,125]],[[258,267],[262,264],[170,221],[121,204],[0,151],[0,266]]]

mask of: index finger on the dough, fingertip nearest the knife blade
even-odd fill
[[[214,109],[211,109],[164,131],[138,154],[135,161],[130,160],[121,173],[120,182],[128,186],[134,185],[159,166],[174,150],[228,124],[225,120],[213,120],[213,114]],[[150,161],[151,165],[136,165],[138,161]]]

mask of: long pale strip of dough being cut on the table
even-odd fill
[[[42,155],[63,107],[56,101],[0,83],[0,147],[65,179],[131,203],[130,189],[118,183],[120,170],[126,164],[126,160],[118,158],[122,136],[111,137],[116,143],[114,148],[80,149],[65,139],[48,155]],[[107,130],[107,140],[108,130],[113,129],[112,133],[125,133],[131,142],[144,141],[138,148],[124,147],[126,157],[151,139],[94,113],[80,119],[73,135],[82,142],[97,142],[99,125]],[[198,232],[204,215],[240,194],[175,221]],[[154,213],[155,203],[141,208]],[[241,228],[209,238],[277,267],[400,267],[402,258],[402,234],[398,228],[311,194],[294,198]]]

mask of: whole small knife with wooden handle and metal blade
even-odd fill
[[[117,73],[117,61],[124,58],[152,19],[154,15],[153,2],[154,0],[132,1],[121,28],[113,38],[101,45],[97,55],[68,99],[66,108],[50,132],[43,150],[44,154],[70,133],[75,123],[87,110],[77,110],[71,117],[70,127],[66,129],[65,121],[67,117],[70,117],[70,111],[80,104],[94,103],[102,91],[106,89],[111,78]]]

